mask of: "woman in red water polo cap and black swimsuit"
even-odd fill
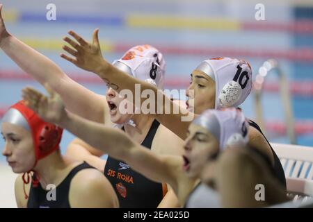
[[[110,182],[86,162],[61,155],[63,129],[19,101],[4,114],[2,154],[13,172],[17,207],[118,207]]]

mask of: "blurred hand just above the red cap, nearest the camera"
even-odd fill
[[[22,89],[22,97],[26,101],[26,105],[43,120],[61,126],[67,117],[63,101],[48,85],[45,85],[45,88],[49,93],[49,98],[32,87]]]

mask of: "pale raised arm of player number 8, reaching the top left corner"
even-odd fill
[[[6,55],[40,84],[49,83],[61,95],[68,110],[86,119],[103,122],[104,114],[109,114],[104,110],[105,97],[74,82],[49,58],[10,35],[3,22],[2,8],[0,5],[0,47]]]

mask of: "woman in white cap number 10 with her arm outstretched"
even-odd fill
[[[65,51],[74,56],[62,55],[63,58],[72,62],[81,69],[93,71],[106,83],[115,85],[118,92],[122,89],[130,89],[133,96],[131,101],[136,98],[136,85],[140,84],[140,94],[146,90],[152,90],[154,94],[152,117],[155,117],[163,126],[166,126],[173,133],[184,139],[186,130],[190,124],[191,117],[194,114],[200,114],[206,109],[220,109],[237,107],[246,100],[252,89],[252,69],[245,60],[237,60],[232,58],[212,58],[204,60],[191,74],[191,85],[187,89],[186,108],[190,112],[186,112],[184,108],[172,102],[163,92],[145,81],[138,80],[125,74],[125,72],[116,69],[102,58],[98,49],[90,49],[90,47],[82,47],[80,42],[84,41],[79,35],[73,35],[75,40],[67,39],[72,48],[65,48]],[[158,71],[158,67],[155,71]],[[138,96],[137,96],[138,97]],[[161,98],[161,99],[160,99]],[[144,103],[145,96],[140,96],[139,100]],[[161,101],[161,102],[160,102]],[[168,110],[170,113],[168,114]],[[177,110],[177,112],[173,112]],[[275,175],[281,184],[286,187],[286,178],[284,170],[278,156],[263,135],[259,126],[254,121],[249,121],[252,130],[249,133],[249,144],[267,155],[271,160]]]

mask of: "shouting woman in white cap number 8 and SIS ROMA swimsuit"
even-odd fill
[[[153,152],[181,155],[182,139],[166,127],[155,121],[153,117],[144,114],[122,113],[117,107],[122,102],[122,97],[115,91],[113,84],[109,85],[106,96],[91,92],[85,87],[69,78],[54,62],[31,49],[16,37],[10,35],[6,30],[1,17],[2,6],[0,6],[0,47],[19,67],[27,74],[33,76],[42,85],[48,84],[61,95],[67,110],[78,114],[81,117],[105,126],[116,126],[125,130],[136,142],[143,144]],[[74,33],[70,32],[70,35]],[[68,37],[65,38],[67,40]],[[94,45],[99,47],[97,30],[93,34]],[[85,42],[86,43],[86,42]],[[84,42],[81,42],[84,44]],[[65,46],[65,49],[66,46]],[[129,58],[133,58],[136,52],[136,63],[128,64]],[[101,52],[98,52],[101,55]],[[128,64],[128,65],[126,65]],[[129,75],[136,76],[148,83],[154,83],[157,87],[163,87],[163,75],[165,73],[165,60],[162,54],[153,46],[136,46],[125,53],[120,60],[114,63],[115,67],[127,71]],[[150,80],[151,67],[158,67],[155,81]],[[128,108],[133,105],[125,104]],[[163,143],[166,141],[166,144]],[[90,155],[91,152],[97,155],[104,153],[95,151],[88,144],[75,139],[71,144],[72,148],[67,155],[86,160],[90,165],[104,172],[109,179],[120,200],[120,207],[176,207],[175,195],[168,189],[166,184],[160,184],[147,180],[144,176],[135,173],[124,162],[109,157],[107,161]],[[87,147],[87,148],[86,148]],[[89,155],[88,155],[89,154]],[[120,173],[120,174],[119,174]],[[125,190],[127,193],[125,195]],[[150,198],[147,199],[147,196]]]

